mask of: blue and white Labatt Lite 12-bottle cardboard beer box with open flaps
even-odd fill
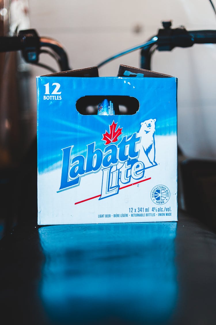
[[[177,221],[177,79],[96,69],[37,77],[38,224]]]

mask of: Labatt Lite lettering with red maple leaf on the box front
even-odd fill
[[[62,177],[59,191],[79,186],[81,177],[97,173],[102,169],[102,186],[99,200],[105,199],[119,192],[119,183],[127,184],[131,182],[131,177],[135,180],[141,179],[144,175],[144,163],[138,161],[140,150],[138,144],[140,137],[137,133],[131,136],[123,136],[118,144],[122,128],[117,128],[117,123],[113,121],[109,125],[109,132],[103,134],[105,149],[96,149],[96,142],[86,145],[86,157],[77,155],[73,157],[74,145],[62,149]]]

